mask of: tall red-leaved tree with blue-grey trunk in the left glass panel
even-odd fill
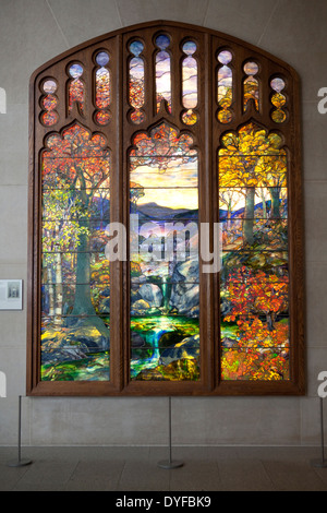
[[[89,216],[93,201],[98,189],[109,187],[110,153],[104,136],[89,132],[74,124],[63,133],[52,134],[48,138],[47,150],[43,156],[43,186],[44,188],[74,191],[78,203],[78,229],[66,231],[64,238],[71,243],[75,237],[76,258],[76,288],[72,315],[83,315],[85,322],[94,325],[105,337],[108,330],[104,321],[96,315],[90,297],[90,247],[89,247]],[[56,195],[51,198],[51,208],[56,206]],[[49,208],[49,206],[48,206]],[[62,220],[61,220],[62,222]],[[63,244],[63,234],[58,234],[58,243]],[[62,246],[65,249],[65,246]]]

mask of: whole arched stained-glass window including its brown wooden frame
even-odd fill
[[[286,62],[170,21],[34,72],[28,393],[303,393],[299,99]]]

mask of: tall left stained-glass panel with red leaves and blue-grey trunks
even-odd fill
[[[43,154],[41,379],[109,380],[110,154],[74,124]]]

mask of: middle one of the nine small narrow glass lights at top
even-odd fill
[[[156,38],[156,46],[160,49],[156,55],[157,112],[160,110],[162,99],[166,99],[168,111],[171,112],[171,64],[170,55],[166,51],[169,45],[170,39],[165,34]]]

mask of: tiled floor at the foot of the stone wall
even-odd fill
[[[166,448],[22,448],[32,464],[10,467],[16,448],[0,448],[1,491],[326,491],[318,448],[172,449],[184,465],[167,470]]]

